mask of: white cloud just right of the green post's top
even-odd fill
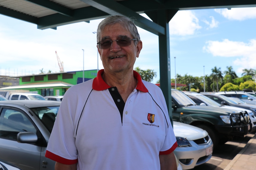
[[[199,20],[192,11],[178,11],[169,22],[170,35],[193,35],[201,29]]]

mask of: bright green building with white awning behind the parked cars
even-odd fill
[[[25,75],[19,78],[19,85],[0,88],[0,90],[29,90],[30,93],[48,95],[64,95],[68,88],[97,76],[97,69],[74,72],[58,72],[39,75]]]

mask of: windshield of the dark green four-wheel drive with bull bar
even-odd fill
[[[181,106],[196,105],[196,103],[192,101],[192,99],[189,98],[189,96],[185,95],[183,92],[179,90],[172,90],[172,98],[174,98]]]

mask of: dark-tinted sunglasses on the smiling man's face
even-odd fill
[[[118,38],[116,40],[103,40],[103,41],[99,41],[97,43],[97,45],[99,45],[100,49],[107,49],[107,48],[111,47],[113,41],[116,41],[118,46],[125,47],[125,46],[131,45],[132,40],[138,40],[138,39],[137,38],[131,39],[131,38],[128,38],[128,37],[123,37],[123,38]]]

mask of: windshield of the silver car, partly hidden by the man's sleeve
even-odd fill
[[[51,132],[59,111],[59,106],[38,107],[32,108],[31,110],[39,117],[49,132]]]

